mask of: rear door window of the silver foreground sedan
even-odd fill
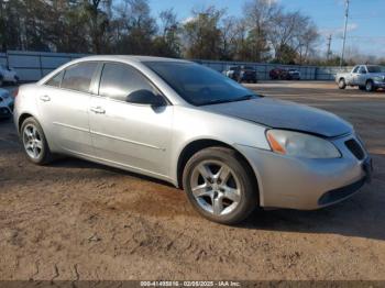
[[[79,63],[65,70],[62,88],[89,92],[89,87],[98,64],[96,62]]]

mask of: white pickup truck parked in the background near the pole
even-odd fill
[[[385,88],[385,69],[377,65],[358,65],[350,73],[337,74],[336,82],[340,89],[358,86],[361,90],[371,92]]]

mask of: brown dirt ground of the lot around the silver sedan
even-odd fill
[[[224,226],[154,179],[73,158],[34,166],[1,121],[0,279],[385,280],[385,92],[251,87],[354,123],[374,157],[373,182],[323,210],[257,211]]]

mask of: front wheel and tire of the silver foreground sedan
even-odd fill
[[[209,147],[186,164],[183,185],[193,207],[205,218],[222,224],[237,224],[257,207],[253,174],[238,153]]]

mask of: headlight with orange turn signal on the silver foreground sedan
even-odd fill
[[[266,137],[273,152],[278,154],[302,158],[341,157],[340,152],[331,142],[309,134],[268,130]]]

